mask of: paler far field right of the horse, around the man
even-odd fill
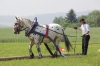
[[[66,28],[66,34],[70,36],[76,36],[76,30],[73,28]],[[90,29],[90,43],[95,44],[95,43],[100,43],[100,27],[92,27]],[[81,42],[81,31],[77,30],[77,42]],[[69,40],[71,42],[75,41],[76,37],[69,37]]]

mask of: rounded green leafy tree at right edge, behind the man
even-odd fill
[[[100,11],[94,10],[87,16],[86,21],[93,27],[100,27]]]

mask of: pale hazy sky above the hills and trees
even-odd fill
[[[0,15],[35,14],[100,10],[100,0],[0,0]]]

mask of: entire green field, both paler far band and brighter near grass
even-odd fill
[[[91,40],[88,49],[88,55],[73,55],[66,58],[42,58],[42,59],[21,59],[0,61],[0,66],[100,66],[100,28],[91,28]],[[76,36],[76,31],[72,28],[66,28],[66,34]],[[76,53],[81,52],[81,31],[77,31]],[[76,37],[69,37],[73,47]],[[29,40],[24,36],[24,32],[19,35],[13,34],[12,28],[0,28],[0,57],[24,56],[29,55]],[[61,47],[64,43],[61,42]],[[49,54],[44,45],[41,45],[42,54]],[[36,46],[32,48],[35,55],[38,55]],[[64,52],[65,53],[65,52]],[[67,52],[68,53],[68,52]],[[71,49],[70,53],[74,53]]]

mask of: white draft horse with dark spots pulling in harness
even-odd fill
[[[61,56],[66,57],[63,55],[59,50],[59,43],[64,38],[65,40],[65,46],[67,50],[70,50],[71,44],[69,39],[67,38],[64,29],[59,24],[48,24],[48,25],[42,25],[38,24],[37,21],[31,21],[30,19],[26,18],[18,18],[15,17],[14,22],[14,33],[19,34],[20,31],[25,30],[25,35],[29,38],[30,44],[29,44],[29,54],[31,58],[34,58],[34,54],[32,52],[32,46],[36,44],[36,48],[39,54],[39,58],[42,57],[40,44],[44,43],[50,43],[53,42],[55,46],[55,52],[53,54],[53,57],[57,56],[57,53],[59,52]]]

